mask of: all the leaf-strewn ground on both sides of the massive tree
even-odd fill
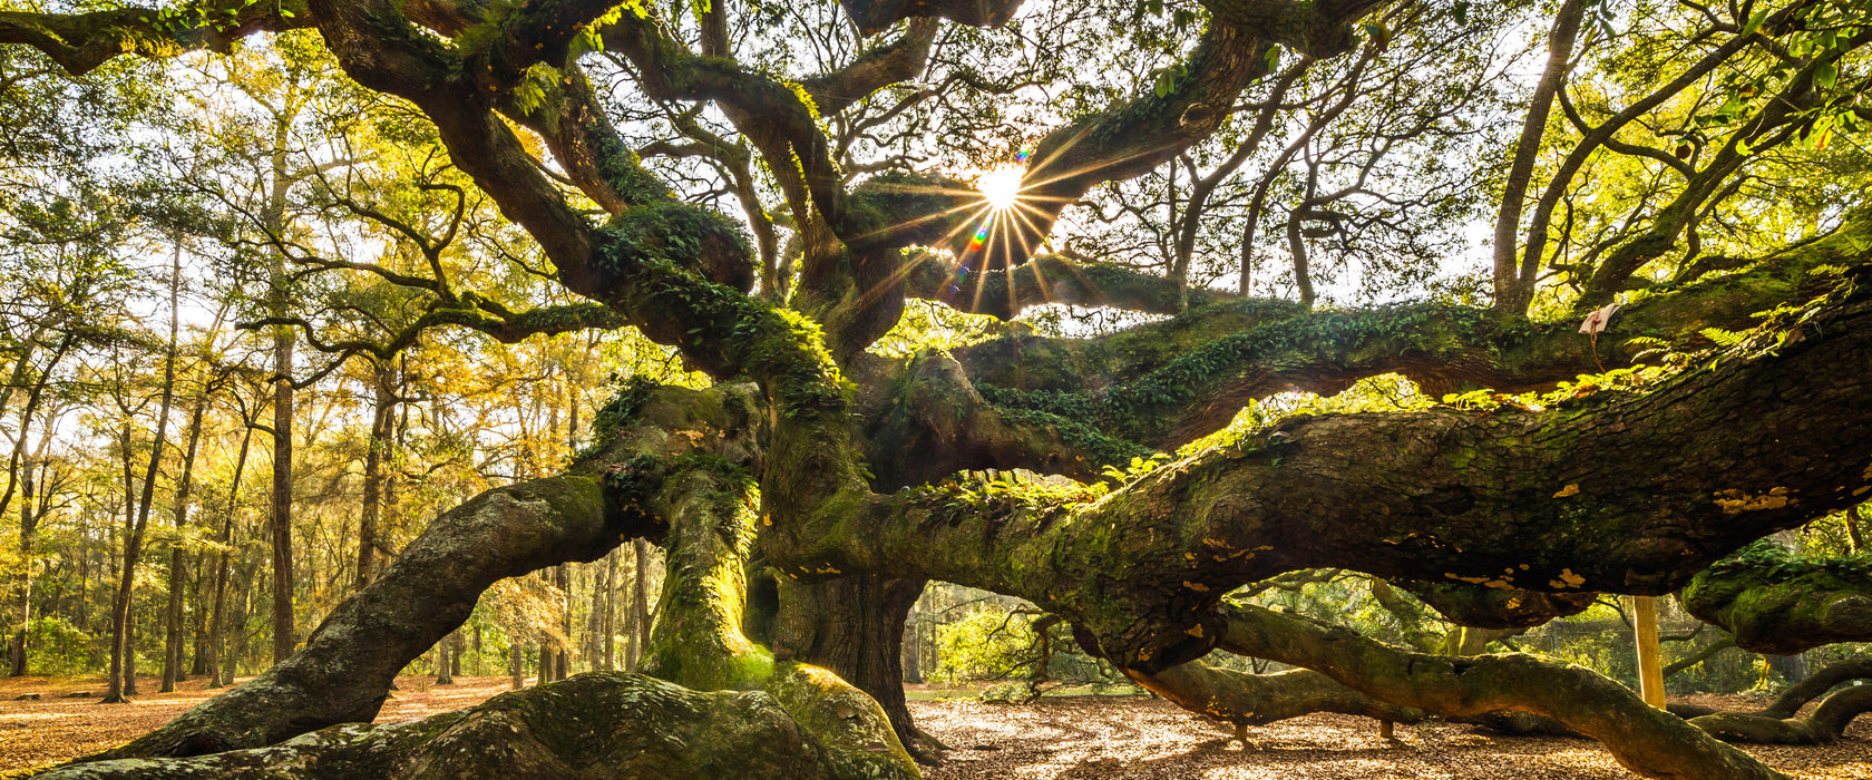
[[[155,690],[157,679],[140,679]],[[507,677],[399,677],[378,722],[423,718],[507,690]],[[62,761],[120,744],[213,696],[202,681],[174,694],[144,694],[127,705],[99,705],[101,677],[0,681],[0,773]],[[88,692],[88,698],[66,698]],[[15,701],[39,694],[37,701]],[[1752,709],[1741,698],[1694,701]],[[1398,726],[1397,743],[1372,720],[1314,715],[1249,731],[1247,750],[1230,729],[1149,698],[1071,696],[1031,705],[975,700],[910,701],[917,722],[951,748],[927,780],[1610,780],[1632,778],[1599,744],[1584,739],[1494,737],[1470,726]],[[1748,746],[1801,780],[1872,780],[1872,718],[1825,746]]]

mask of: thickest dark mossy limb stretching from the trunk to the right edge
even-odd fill
[[[764,542],[796,576],[910,569],[1022,595],[1146,672],[1207,649],[1222,593],[1294,569],[1668,593],[1872,481],[1872,372],[1840,370],[1872,359],[1872,296],[1850,290],[1644,395],[1290,419],[1097,501],[848,492],[777,514]]]

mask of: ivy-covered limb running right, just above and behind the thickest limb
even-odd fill
[[[1621,367],[1657,339],[1704,344],[1705,327],[1747,329],[1758,312],[1831,282],[1823,267],[1857,266],[1872,213],[1754,267],[1683,284],[1623,307],[1599,337],[1599,359],[1576,322],[1501,320],[1481,309],[1398,305],[1307,312],[1239,299],[1099,339],[1007,335],[955,350],[972,382],[1007,406],[1097,421],[1112,436],[1168,449],[1228,423],[1249,400],[1288,389],[1333,395],[1400,372],[1425,393],[1505,393]]]

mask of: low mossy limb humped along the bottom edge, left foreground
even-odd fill
[[[790,694],[790,692],[788,692]],[[818,726],[818,724],[814,724]],[[760,690],[702,692],[646,675],[590,672],[425,720],[344,724],[286,743],[187,759],[54,769],[101,778],[616,778],[869,780]]]

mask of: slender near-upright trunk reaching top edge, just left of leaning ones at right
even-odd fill
[[[1554,95],[1565,86],[1567,71],[1572,67],[1572,45],[1580,37],[1584,15],[1586,0],[1567,0],[1559,6],[1554,30],[1548,34],[1546,71],[1541,73],[1541,82],[1528,103],[1528,116],[1522,120],[1520,140],[1514,142],[1514,161],[1509,163],[1501,208],[1496,211],[1496,311],[1501,312],[1524,314],[1533,301],[1535,275],[1524,275],[1516,264],[1522,204],[1528,200],[1528,183],[1533,181],[1533,165],[1541,155],[1541,137],[1554,110]]]

